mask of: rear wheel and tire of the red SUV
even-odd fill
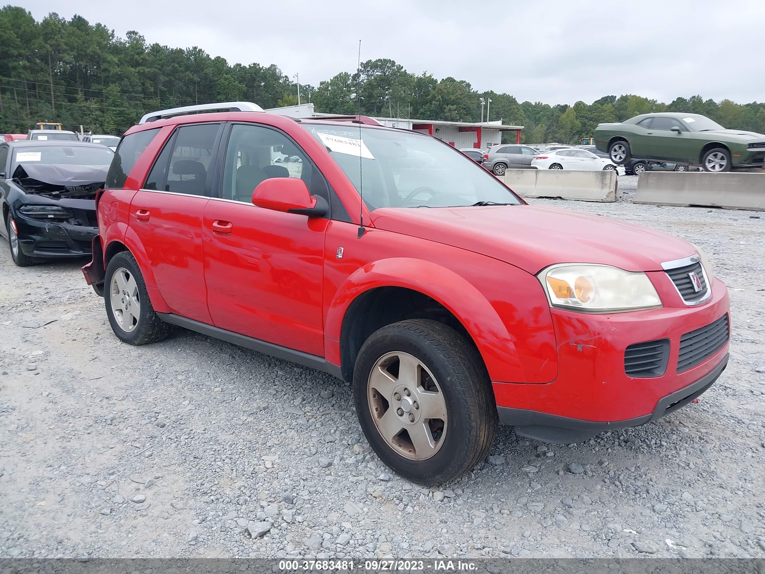
[[[168,336],[171,327],[151,306],[141,269],[132,253],[122,251],[109,260],[104,288],[106,315],[121,341],[142,345]]]

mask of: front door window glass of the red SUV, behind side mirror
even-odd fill
[[[221,197],[251,204],[252,191],[270,178],[300,178],[311,195],[330,200],[324,176],[282,132],[265,126],[231,126],[223,161]]]

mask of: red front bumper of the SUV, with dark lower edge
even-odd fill
[[[575,433],[560,429],[591,431],[591,436],[603,429],[640,425],[656,418],[667,397],[685,393],[670,401],[682,403],[695,392],[699,381],[714,382],[727,363],[729,339],[688,368],[679,365],[680,341],[683,335],[728,315],[728,289],[715,279],[708,301],[690,306],[682,302],[666,273],[648,275],[665,307],[613,315],[552,309],[558,375],[544,384],[493,383],[500,419],[513,426],[558,429],[545,431],[547,440],[560,435],[564,442],[577,442],[571,439]],[[628,375],[624,364],[627,347],[659,339],[669,339],[663,374]],[[535,435],[541,439],[542,431],[536,429]]]

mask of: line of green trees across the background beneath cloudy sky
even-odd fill
[[[765,133],[765,103],[702,96],[661,103],[633,94],[572,106],[519,103],[508,93],[474,90],[465,80],[409,73],[386,58],[300,90],[301,102],[310,100],[317,112],[462,122],[480,121],[480,98],[491,99],[488,119],[525,126],[522,141],[529,143],[578,143],[598,123],[660,111],[701,113],[726,128]],[[239,100],[263,108],[294,105],[298,85],[276,64],[229,64],[198,47],[148,44],[137,31],[120,38],[78,15],[67,21],[51,13],[35,21],[24,8],[0,9],[0,132],[23,133],[50,121],[121,135],[157,109]]]

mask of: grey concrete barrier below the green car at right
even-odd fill
[[[763,211],[765,174],[644,171],[633,203]]]

